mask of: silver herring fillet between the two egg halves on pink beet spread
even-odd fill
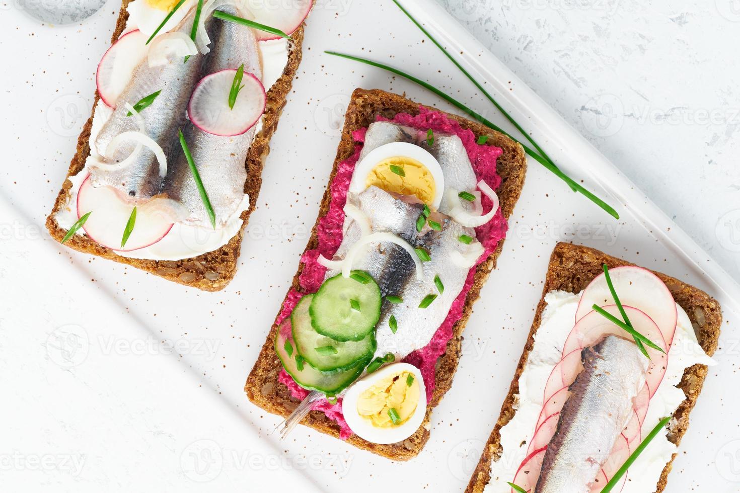
[[[469,267],[457,265],[451,259],[451,253],[465,253],[480,247],[477,242],[471,245],[460,242],[461,234],[473,236],[474,231],[443,214],[433,213],[431,217],[440,222],[442,231],[435,231],[428,225],[417,231],[416,222],[423,211],[423,204],[415,201],[414,197],[390,194],[371,186],[360,194],[349,194],[348,203],[357,206],[368,217],[372,233],[396,234],[414,248],[423,248],[431,257],[430,261],[423,262],[423,279],[417,279],[414,261],[408,252],[391,242],[366,245],[352,265],[354,269],[367,271],[377,281],[383,296],[395,295],[403,299],[397,305],[383,301],[376,331],[376,356],[392,353],[398,360],[428,344],[465,284]],[[337,256],[344,258],[359,238],[357,222],[349,222]],[[329,271],[326,276],[337,273],[339,271]],[[439,276],[443,283],[443,293],[434,283],[435,276]],[[429,294],[435,294],[437,298],[428,307],[420,308],[420,302]],[[391,315],[398,324],[396,333],[388,327]]]

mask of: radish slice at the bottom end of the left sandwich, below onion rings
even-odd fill
[[[134,204],[108,186],[92,186],[88,176],[77,192],[77,217],[92,212],[84,228],[92,241],[116,251],[132,251],[153,245],[172,229],[183,211],[174,200],[155,198],[136,208],[136,222],[124,248],[124,235]]]

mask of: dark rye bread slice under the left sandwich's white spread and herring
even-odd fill
[[[115,30],[111,38],[111,42],[114,43],[121,35],[121,32],[126,26],[126,21],[129,18],[128,11],[126,10],[130,0],[123,0],[121,4],[121,13],[118,16],[118,24],[116,24]],[[125,256],[115,254],[109,248],[98,245],[93,242],[87,235],[75,234],[72,238],[68,239],[64,245],[70,246],[77,251],[84,252],[86,254],[93,254],[101,256],[104,259],[115,260],[115,262],[121,262],[122,264],[132,265],[135,268],[139,268],[143,271],[155,274],[155,276],[164,277],[169,281],[178,282],[182,285],[192,286],[206,291],[218,291],[226,287],[229,282],[234,278],[234,274],[237,269],[237,259],[239,256],[239,250],[241,248],[241,240],[244,235],[244,228],[246,228],[247,220],[249,215],[255,209],[257,204],[257,197],[260,193],[260,187],[262,186],[262,169],[267,154],[270,152],[269,141],[272,138],[272,134],[277,129],[277,120],[280,118],[280,113],[283,111],[283,107],[286,103],[286,98],[293,84],[293,77],[300,64],[301,45],[303,43],[303,27],[301,25],[298,30],[292,34],[293,42],[290,45],[288,63],[283,70],[283,75],[275,82],[275,85],[267,92],[267,106],[265,108],[265,114],[263,115],[263,126],[260,132],[255,135],[252,140],[252,146],[249,147],[249,152],[246,155],[246,183],[244,183],[244,193],[249,194],[249,208],[243,211],[241,219],[244,221],[242,227],[238,233],[229,239],[226,245],[223,245],[218,250],[208,252],[199,256],[195,256],[189,259],[181,260],[147,260],[147,259],[129,259]],[[92,115],[95,114],[95,105],[98,103],[100,96],[95,91],[95,103],[92,105]],[[90,140],[90,129],[92,129],[92,115],[87,120],[82,133],[77,140],[77,153],[72,158],[70,163],[70,169],[67,172],[67,180],[61,186],[54,203],[54,208],[47,217],[46,226],[51,236],[57,241],[61,242],[64,235],[67,234],[67,230],[61,228],[54,215],[61,208],[64,203],[67,202],[67,197],[70,194],[70,188],[72,183],[68,180],[69,177],[77,174],[81,169],[84,168],[85,160],[90,155],[90,146],[88,141]]]

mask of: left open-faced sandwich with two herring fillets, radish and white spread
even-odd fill
[[[184,285],[234,276],[312,0],[124,0],[47,228]]]

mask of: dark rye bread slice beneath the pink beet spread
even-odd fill
[[[379,89],[364,90],[355,89],[352,93],[351,102],[347,108],[346,118],[344,121],[344,129],[342,131],[342,140],[339,143],[339,149],[337,150],[337,157],[334,160],[334,168],[332,174],[329,177],[329,183],[334,180],[334,176],[337,174],[337,166],[347,157],[350,157],[354,153],[354,139],[352,138],[352,132],[357,129],[369,126],[370,123],[375,121],[376,115],[383,115],[386,118],[393,118],[397,113],[409,113],[411,115],[417,115],[419,113],[419,103],[409,101],[406,98],[402,98],[399,95],[392,94],[390,92],[384,92]],[[425,106],[428,109],[434,109],[431,106]],[[434,109],[434,111],[439,111]],[[522,192],[522,186],[524,185],[525,171],[527,168],[527,161],[524,154],[524,149],[519,143],[514,142],[509,137],[495,132],[480,123],[475,123],[464,118],[457,117],[455,115],[445,114],[449,118],[453,118],[460,123],[460,126],[464,129],[471,129],[471,131],[480,137],[481,135],[488,135],[488,144],[500,147],[503,149],[503,154],[497,161],[497,171],[502,178],[501,186],[497,189],[499,196],[502,213],[505,218],[511,216],[511,212],[514,210],[514,204],[519,199],[519,194]],[[329,203],[331,203],[332,197],[329,194],[329,187],[327,186],[326,192],[324,193],[323,200],[321,201],[318,217],[323,217],[326,212],[329,211]],[[316,224],[318,224],[318,219]],[[316,248],[318,244],[316,235],[316,225],[314,225],[311,239],[309,239],[306,250]],[[431,401],[428,403],[426,416],[423,424],[414,432],[414,435],[407,438],[401,443],[394,443],[391,445],[379,445],[377,443],[370,443],[357,437],[357,435],[351,435],[347,440],[354,446],[360,449],[366,449],[370,452],[374,452],[378,455],[383,455],[386,458],[394,460],[408,460],[416,456],[423,448],[426,441],[429,439],[429,429],[431,428],[429,419],[431,415],[431,409],[440,403],[445,392],[450,388],[452,384],[452,377],[457,370],[457,362],[460,359],[460,341],[462,329],[465,327],[465,323],[468,322],[470,317],[473,303],[478,296],[480,296],[480,288],[482,287],[485,279],[488,278],[488,274],[496,267],[496,260],[501,253],[503,240],[499,242],[496,251],[488,256],[485,262],[482,262],[477,268],[475,273],[475,281],[467,298],[465,299],[465,306],[463,308],[462,317],[454,324],[453,337],[449,341],[444,355],[437,362],[437,371],[435,373],[436,386],[434,387],[434,394],[432,395]],[[298,284],[298,276],[303,270],[303,264],[300,264],[298,271],[293,278],[292,288],[301,291],[300,285]],[[255,367],[252,368],[252,372],[249,373],[247,378],[246,390],[249,395],[249,400],[257,404],[259,407],[266,409],[268,412],[273,414],[287,416],[298,404],[295,398],[292,398],[288,388],[280,384],[277,381],[277,377],[280,374],[282,366],[280,361],[275,355],[275,349],[273,347],[273,341],[275,339],[275,332],[277,326],[273,324],[270,330],[267,340],[260,351],[260,356],[255,363]],[[311,426],[313,429],[317,429],[320,432],[339,437],[339,426],[326,415],[320,411],[312,411],[302,421],[306,426]]]

